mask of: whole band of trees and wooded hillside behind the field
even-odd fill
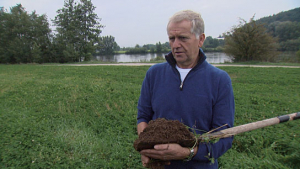
[[[100,36],[104,25],[94,12],[91,0],[65,0],[52,20],[46,15],[28,13],[18,4],[10,12],[0,7],[0,63],[66,63],[89,61],[95,55],[116,51],[167,53],[168,42],[120,48],[113,36]],[[208,36],[205,52],[225,52],[234,61],[274,61],[280,51],[295,51],[300,61],[300,8],[238,26],[219,38]]]

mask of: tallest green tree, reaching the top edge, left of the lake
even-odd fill
[[[60,59],[61,62],[89,60],[91,54],[96,52],[95,44],[103,25],[94,10],[90,0],[65,0],[64,7],[57,11],[53,22],[57,26],[56,49],[65,51],[62,52],[64,58]],[[69,56],[67,51],[70,50],[76,53],[74,57]]]

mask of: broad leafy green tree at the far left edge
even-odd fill
[[[31,63],[39,51],[40,61],[50,45],[49,24],[46,15],[28,14],[18,4],[10,13],[0,12],[0,63]]]

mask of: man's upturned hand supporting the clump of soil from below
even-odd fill
[[[140,154],[163,161],[183,160],[189,156],[190,150],[179,144],[158,144],[154,146],[154,149],[142,150]]]

